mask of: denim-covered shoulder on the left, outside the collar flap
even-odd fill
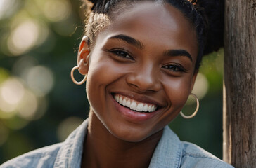
[[[60,149],[60,144],[54,144],[51,146],[46,146],[44,148],[39,148],[37,150],[25,153],[8,160],[3,165],[0,165],[0,168],[18,168],[18,167],[53,167],[56,155]]]

